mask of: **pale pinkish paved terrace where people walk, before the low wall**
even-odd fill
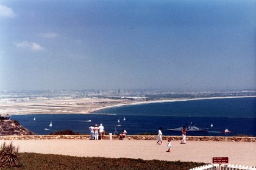
[[[2,143],[4,141],[0,141]],[[7,141],[10,143],[10,141]],[[229,164],[256,166],[256,143],[227,141],[167,141],[154,140],[14,140],[20,152],[62,154],[81,157],[126,157],[144,160],[197,161],[212,163],[213,157],[229,157]]]

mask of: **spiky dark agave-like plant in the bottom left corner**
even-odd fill
[[[0,167],[14,167],[20,166],[19,148],[13,146],[12,142],[6,144],[5,142],[0,148]]]

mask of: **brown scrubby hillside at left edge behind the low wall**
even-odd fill
[[[1,120],[0,135],[36,135],[29,131],[16,120]]]

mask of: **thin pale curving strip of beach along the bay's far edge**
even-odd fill
[[[98,112],[104,109],[110,109],[113,107],[121,107],[121,106],[129,106],[129,105],[138,105],[138,104],[152,104],[152,103],[169,103],[169,102],[179,102],[179,101],[195,101],[195,100],[213,100],[213,99],[225,99],[225,98],[249,98],[249,97],[256,97],[256,96],[244,96],[244,97],[210,97],[210,98],[183,98],[183,99],[172,99],[172,100],[155,100],[155,101],[137,101],[135,103],[121,103],[115,106],[105,106],[95,108],[89,111],[88,114],[96,114],[94,112]]]

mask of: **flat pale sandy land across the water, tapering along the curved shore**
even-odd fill
[[[255,96],[252,96],[255,97]],[[1,102],[0,114],[26,115],[26,114],[93,114],[97,110],[110,107],[119,107],[134,104],[165,103],[190,100],[211,100],[216,98],[242,98],[242,97],[214,97],[214,98],[183,98],[172,100],[136,101],[113,100],[107,98],[33,98],[29,100],[16,100],[12,103]]]

